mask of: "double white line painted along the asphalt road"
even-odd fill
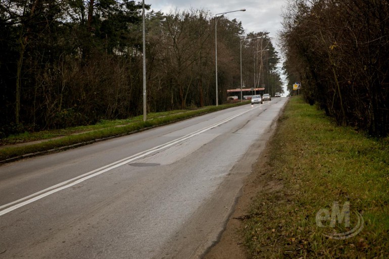
[[[257,108],[258,108],[258,107],[257,107]],[[254,109],[256,109],[256,108],[254,108]],[[76,185],[76,184],[78,184],[78,183],[81,183],[81,182],[83,182],[83,181],[85,181],[85,180],[87,180],[87,179],[89,179],[89,178],[98,176],[98,175],[103,174],[103,173],[105,173],[105,172],[108,172],[108,171],[110,171],[110,170],[112,170],[112,169],[114,169],[114,168],[123,166],[123,165],[125,165],[125,164],[127,164],[127,163],[129,163],[129,162],[132,162],[132,161],[134,161],[134,160],[137,160],[137,159],[143,158],[143,157],[145,157],[145,156],[148,156],[148,155],[151,154],[151,153],[154,153],[154,152],[159,151],[159,150],[161,150],[161,149],[167,148],[167,147],[169,147],[169,146],[172,146],[172,145],[174,145],[174,144],[177,144],[177,143],[179,143],[179,142],[182,142],[182,141],[184,141],[184,140],[186,140],[186,139],[189,139],[189,138],[192,138],[192,137],[194,137],[194,136],[197,136],[197,135],[199,135],[199,134],[201,134],[201,133],[203,133],[203,132],[206,132],[206,131],[208,131],[208,130],[210,130],[210,129],[213,129],[213,128],[215,128],[215,127],[217,127],[217,126],[219,126],[219,125],[221,125],[221,124],[223,124],[223,123],[226,123],[226,122],[228,122],[228,121],[230,121],[230,120],[232,120],[232,119],[234,119],[234,118],[236,118],[236,117],[238,117],[238,116],[240,116],[240,115],[242,115],[242,114],[245,114],[245,113],[247,113],[247,112],[250,112],[250,111],[253,111],[253,109],[249,109],[249,110],[246,110],[246,111],[244,111],[244,112],[238,113],[238,114],[236,114],[236,115],[233,115],[233,116],[231,116],[231,117],[228,117],[227,119],[224,119],[224,120],[222,120],[222,121],[219,121],[219,122],[217,122],[217,123],[215,123],[215,124],[213,124],[213,125],[211,125],[211,126],[205,127],[205,128],[203,128],[203,129],[200,129],[200,130],[197,130],[197,131],[194,131],[194,132],[192,132],[192,133],[190,133],[190,134],[187,134],[187,135],[185,135],[185,136],[182,136],[182,137],[180,137],[180,138],[171,140],[171,141],[169,141],[169,142],[167,142],[167,143],[165,143],[165,144],[162,144],[162,145],[159,145],[159,146],[155,146],[155,147],[150,148],[150,149],[148,149],[148,150],[145,150],[145,151],[136,153],[136,154],[134,154],[134,155],[132,155],[132,156],[130,156],[130,157],[127,157],[127,158],[125,158],[125,159],[116,161],[116,162],[114,162],[114,163],[112,163],[112,164],[109,164],[109,165],[107,165],[107,166],[104,166],[104,167],[95,169],[95,170],[90,171],[90,172],[88,172],[88,173],[85,173],[85,174],[83,174],[83,175],[74,177],[74,178],[69,179],[69,180],[67,180],[67,181],[64,181],[64,182],[62,182],[62,183],[59,183],[59,184],[53,185],[53,186],[51,186],[51,187],[48,187],[48,188],[46,188],[46,189],[44,189],[44,190],[35,192],[35,193],[33,193],[33,194],[31,194],[31,195],[28,195],[28,196],[26,196],[26,197],[23,197],[23,198],[21,198],[21,199],[18,199],[18,200],[15,200],[15,201],[13,201],[13,202],[10,202],[10,203],[8,203],[8,204],[2,205],[2,206],[0,206],[0,210],[2,210],[2,209],[4,209],[4,208],[7,208],[7,209],[5,209],[5,210],[3,210],[3,211],[0,211],[0,216],[2,216],[2,215],[4,215],[4,214],[7,214],[7,213],[9,213],[9,212],[12,212],[12,211],[14,211],[14,210],[16,210],[16,209],[18,209],[18,208],[21,208],[21,207],[24,206],[24,205],[27,205],[27,204],[29,204],[29,203],[31,203],[31,202],[34,202],[34,201],[36,201],[36,200],[39,200],[39,199],[41,199],[41,198],[43,198],[43,197],[46,197],[46,196],[48,196],[48,195],[51,195],[51,194],[56,193],[56,192],[58,192],[58,191],[61,191],[61,190],[63,190],[63,189],[66,189],[66,188],[69,188],[69,187],[71,187],[71,186],[74,186],[74,185]]]

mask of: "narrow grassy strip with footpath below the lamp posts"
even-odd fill
[[[0,139],[0,162],[13,158],[21,158],[32,153],[46,152],[48,150],[58,150],[59,148],[69,148],[83,145],[113,136],[121,136],[143,130],[150,127],[160,126],[190,117],[199,116],[219,110],[247,105],[250,101],[235,102],[232,104],[210,106],[197,110],[178,110],[164,113],[150,113],[147,121],[143,122],[143,116],[137,116],[128,120],[101,121],[96,125],[80,126],[61,130],[48,130],[34,133],[24,133]],[[46,140],[39,142],[39,140]],[[38,141],[38,143],[30,143]],[[12,145],[25,143],[26,145]],[[9,146],[11,145],[11,146]]]

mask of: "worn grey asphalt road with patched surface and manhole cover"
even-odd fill
[[[198,258],[286,98],[0,166],[0,258]]]

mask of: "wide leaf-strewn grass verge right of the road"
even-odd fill
[[[389,138],[376,140],[337,127],[301,98],[289,101],[258,175],[263,184],[243,222],[253,258],[389,258]],[[336,219],[316,223],[321,209],[342,215],[350,202],[350,227]],[[364,220],[356,236],[344,233]],[[322,216],[325,214],[319,214]]]

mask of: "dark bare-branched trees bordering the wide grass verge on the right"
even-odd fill
[[[339,125],[389,131],[389,3],[289,0],[280,33],[290,92],[301,82]]]

